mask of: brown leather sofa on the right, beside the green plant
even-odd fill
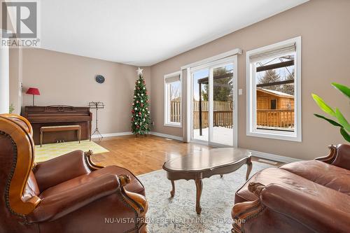
[[[259,171],[235,195],[232,232],[350,232],[350,145]]]

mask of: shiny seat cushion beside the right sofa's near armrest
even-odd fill
[[[274,183],[286,186],[293,190],[310,192],[311,194],[315,192],[315,190],[318,190],[316,188],[328,189],[309,181],[302,176],[297,176],[290,171],[273,167],[258,171],[256,174],[254,174],[254,176],[246,181],[246,183],[239,190],[237,190],[235,194],[235,204],[240,202],[251,202],[258,199],[258,197],[248,190],[248,184],[251,182],[262,183],[265,186]]]

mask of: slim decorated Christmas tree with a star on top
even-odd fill
[[[134,102],[132,103],[132,133],[135,135],[143,135],[150,132],[150,111],[149,99],[144,80],[143,69],[137,69],[139,78],[135,83]]]

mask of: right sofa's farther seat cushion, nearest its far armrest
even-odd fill
[[[350,195],[350,171],[347,169],[316,160],[293,162],[279,168]]]

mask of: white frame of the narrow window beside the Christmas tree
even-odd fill
[[[168,88],[167,88],[167,78],[172,78],[174,76],[180,77],[180,122],[170,122],[169,119],[169,103],[168,103]],[[182,72],[176,71],[174,73],[168,73],[164,76],[164,126],[169,127],[182,127],[182,101],[183,101],[183,91],[182,91]]]

